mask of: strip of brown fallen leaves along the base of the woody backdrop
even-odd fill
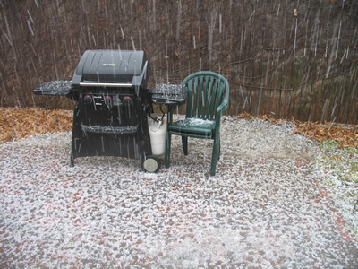
[[[248,113],[239,114],[238,118],[260,119],[273,124],[285,121],[267,115],[253,116]],[[72,130],[72,111],[47,110],[44,108],[0,108],[0,143],[18,140],[35,134],[48,132],[62,133]],[[290,119],[294,133],[302,134],[310,139],[322,142],[334,140],[340,147],[358,146],[358,126],[332,122],[303,122]]]

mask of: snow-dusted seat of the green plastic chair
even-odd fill
[[[211,136],[215,129],[215,121],[190,117],[178,120],[169,126],[170,131],[181,134],[202,134],[203,136]]]

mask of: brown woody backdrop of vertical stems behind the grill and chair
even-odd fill
[[[26,1],[0,4],[0,105],[71,80],[87,49],[143,49],[149,86],[223,74],[228,113],[357,124],[358,1]]]

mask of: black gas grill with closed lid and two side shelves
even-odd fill
[[[148,117],[153,103],[179,105],[186,91],[180,85],[147,89],[150,66],[144,51],[88,50],[72,82],[46,82],[39,95],[60,95],[77,101],[73,113],[71,165],[84,156],[119,156],[141,160],[143,169],[156,172]]]

